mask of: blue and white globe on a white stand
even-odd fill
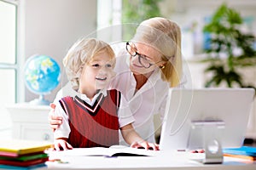
[[[60,83],[60,65],[47,55],[34,55],[26,60],[24,75],[26,88],[34,94],[39,94],[39,99],[35,99],[32,103],[49,105],[44,95],[50,94]]]

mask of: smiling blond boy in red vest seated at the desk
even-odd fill
[[[158,144],[144,141],[135,132],[134,118],[119,91],[106,89],[115,65],[108,43],[82,39],[70,48],[63,64],[77,95],[56,105],[55,113],[63,116],[63,123],[55,130],[55,150],[119,144],[119,129],[131,147],[159,150]]]

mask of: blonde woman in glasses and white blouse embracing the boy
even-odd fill
[[[181,31],[171,20],[155,17],[144,20],[125,45],[125,51],[117,57],[117,76],[110,88],[119,90],[129,101],[137,133],[154,143],[154,114],[163,116],[169,88],[182,87],[184,82]],[[69,85],[62,88],[56,99],[70,94],[69,89]],[[55,129],[61,124],[61,117],[52,112],[49,123]],[[124,144],[122,139],[120,141]]]

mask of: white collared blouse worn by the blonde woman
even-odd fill
[[[129,69],[129,56],[123,54],[117,57],[115,71],[117,75],[110,88],[118,89],[129,102],[137,133],[148,142],[155,142],[154,114],[165,112],[168,83],[161,80],[160,71],[156,70],[135,93],[136,80]]]

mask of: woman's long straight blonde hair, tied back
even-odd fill
[[[161,78],[177,87],[182,75],[181,31],[175,22],[155,17],[144,20],[138,27],[133,41],[143,42],[155,48],[167,61],[161,69]]]

